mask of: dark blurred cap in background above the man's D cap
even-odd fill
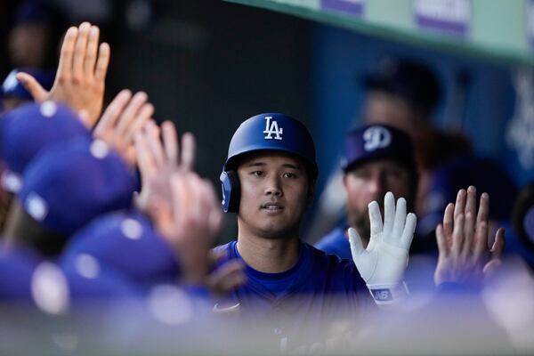
[[[363,78],[368,89],[395,94],[411,105],[432,110],[440,101],[438,78],[422,63],[393,58],[381,61],[376,73]]]

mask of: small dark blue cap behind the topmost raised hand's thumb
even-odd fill
[[[26,90],[24,85],[17,79],[17,74],[20,72],[28,73],[32,77],[36,78],[36,81],[43,86],[45,90],[50,90],[53,85],[55,73],[53,71],[46,71],[33,68],[13,69],[2,84],[2,91],[0,92],[2,97],[14,97],[25,101],[33,101],[33,97]]]

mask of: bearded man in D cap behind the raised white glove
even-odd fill
[[[409,210],[417,193],[417,166],[408,134],[389,125],[366,125],[350,132],[344,142],[343,186],[347,222],[316,244],[320,250],[351,259],[347,229],[352,226],[368,245],[368,204],[382,202],[386,192],[406,197]],[[416,241],[414,241],[415,243]]]

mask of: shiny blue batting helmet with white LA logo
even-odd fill
[[[250,117],[239,125],[232,136],[220,177],[225,213],[239,209],[239,180],[235,173],[239,158],[265,150],[283,151],[302,158],[312,179],[317,177],[319,169],[315,161],[315,144],[306,126],[284,114],[265,113]]]

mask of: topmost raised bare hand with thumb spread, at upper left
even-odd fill
[[[28,73],[17,74],[35,101],[60,101],[69,105],[91,128],[101,115],[109,44],[99,45],[100,29],[89,22],[69,28],[61,46],[60,63],[50,92]]]

